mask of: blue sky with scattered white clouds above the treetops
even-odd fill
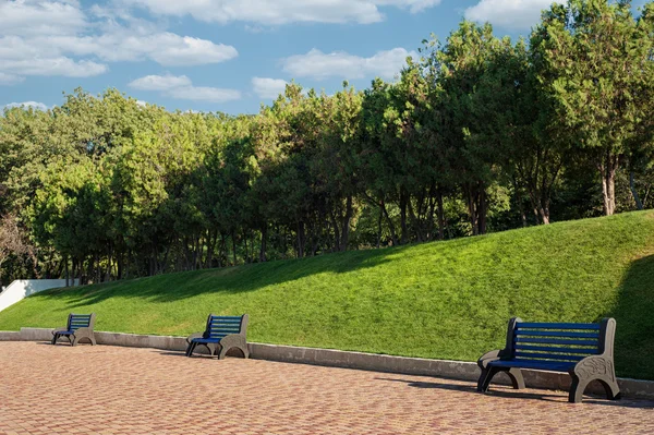
[[[552,0],[0,0],[0,108],[116,87],[169,110],[251,113],[295,80],[392,80],[463,19],[528,35]],[[635,3],[644,3],[639,0]]]

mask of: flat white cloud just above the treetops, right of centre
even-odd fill
[[[312,49],[306,55],[291,56],[283,60],[283,70],[293,77],[312,77],[324,80],[328,77],[365,78],[380,76],[392,78],[407,63],[407,57],[416,57],[415,52],[403,48],[379,51],[370,58],[337,51],[324,53]]]

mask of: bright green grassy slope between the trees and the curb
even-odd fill
[[[511,316],[611,315],[619,375],[654,379],[654,213],[53,290],[1,312],[0,330],[60,326],[70,311],[160,335],[246,312],[252,341],[468,361],[502,346]]]

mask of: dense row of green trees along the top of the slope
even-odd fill
[[[529,44],[463,22],[395,83],[293,83],[256,116],[77,89],[0,117],[0,278],[99,282],[652,207],[653,153],[652,2],[555,4]]]

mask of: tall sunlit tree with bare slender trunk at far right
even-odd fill
[[[606,215],[616,208],[616,172],[652,116],[642,98],[654,86],[653,24],[652,4],[637,20],[628,0],[569,0],[545,12],[531,38],[557,122],[592,155]]]

